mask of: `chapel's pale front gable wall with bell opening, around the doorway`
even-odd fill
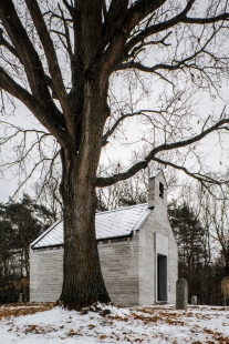
[[[139,304],[156,302],[155,233],[168,236],[168,302],[176,302],[178,279],[177,244],[167,215],[167,194],[159,198],[159,182],[166,185],[163,173],[155,178],[154,209],[139,230]],[[166,186],[165,186],[166,188]]]

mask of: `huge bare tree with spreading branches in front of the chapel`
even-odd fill
[[[167,152],[186,148],[186,156],[190,152],[195,156],[195,144],[202,138],[228,130],[226,111],[218,118],[200,117],[201,128],[191,130],[195,100],[190,102],[197,91],[217,97],[228,78],[223,49],[228,19],[228,1],[221,0],[0,1],[2,111],[6,100],[17,98],[44,127],[37,132],[39,148],[50,135],[60,148],[64,208],[60,299],[66,307],[110,301],[95,240],[96,186],[128,179],[153,160],[206,184],[215,182],[201,170],[190,172],[181,158],[180,164],[170,161]],[[115,80],[129,85],[121,102]],[[154,108],[150,92],[158,93]],[[98,178],[102,148],[136,117],[150,125],[142,136],[147,154],[127,170]],[[25,151],[28,131],[13,130],[11,139],[22,134],[18,159],[22,163],[35,143]],[[1,139],[1,144],[10,138]],[[53,154],[58,159],[59,150]],[[43,151],[41,155],[46,162]]]

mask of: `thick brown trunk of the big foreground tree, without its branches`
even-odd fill
[[[97,301],[110,302],[95,239],[96,170],[106,119],[100,95],[98,88],[85,85],[79,150],[62,150],[64,281],[60,299],[65,307],[74,310]]]

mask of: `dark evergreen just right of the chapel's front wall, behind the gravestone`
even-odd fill
[[[178,245],[178,277],[189,286],[189,299],[207,299],[208,250],[206,231],[187,203],[169,206],[169,221]]]

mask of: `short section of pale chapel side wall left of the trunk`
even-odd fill
[[[63,250],[30,249],[30,302],[55,302],[63,283]]]

